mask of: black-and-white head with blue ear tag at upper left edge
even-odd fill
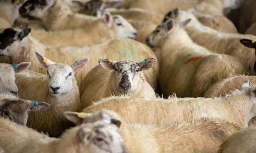
[[[0,34],[0,56],[13,56],[18,46],[22,46],[22,40],[30,33],[31,29],[14,30],[4,29]]]

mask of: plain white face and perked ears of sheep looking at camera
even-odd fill
[[[85,58],[67,65],[54,63],[38,52],[35,52],[35,55],[42,66],[47,68],[48,88],[53,96],[70,93],[73,88],[72,77],[74,73],[83,69],[89,61],[89,58]]]

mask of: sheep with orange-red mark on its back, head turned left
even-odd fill
[[[174,92],[178,97],[203,97],[213,83],[246,71],[237,58],[195,44],[182,29],[189,21],[175,24],[170,19],[147,38],[149,46],[161,48],[159,83],[164,97]]]

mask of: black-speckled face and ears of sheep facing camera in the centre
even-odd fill
[[[149,70],[154,66],[154,58],[145,59],[137,63],[131,60],[112,61],[110,59],[99,59],[99,64],[107,70],[115,70],[115,87],[121,94],[129,94],[136,90],[139,84],[140,71]]]

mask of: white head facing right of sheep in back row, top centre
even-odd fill
[[[126,21],[120,15],[111,15],[110,13],[104,13],[103,19],[107,24],[108,28],[113,28],[116,30],[118,37],[120,38],[130,38],[135,39],[137,35],[137,30]]]

